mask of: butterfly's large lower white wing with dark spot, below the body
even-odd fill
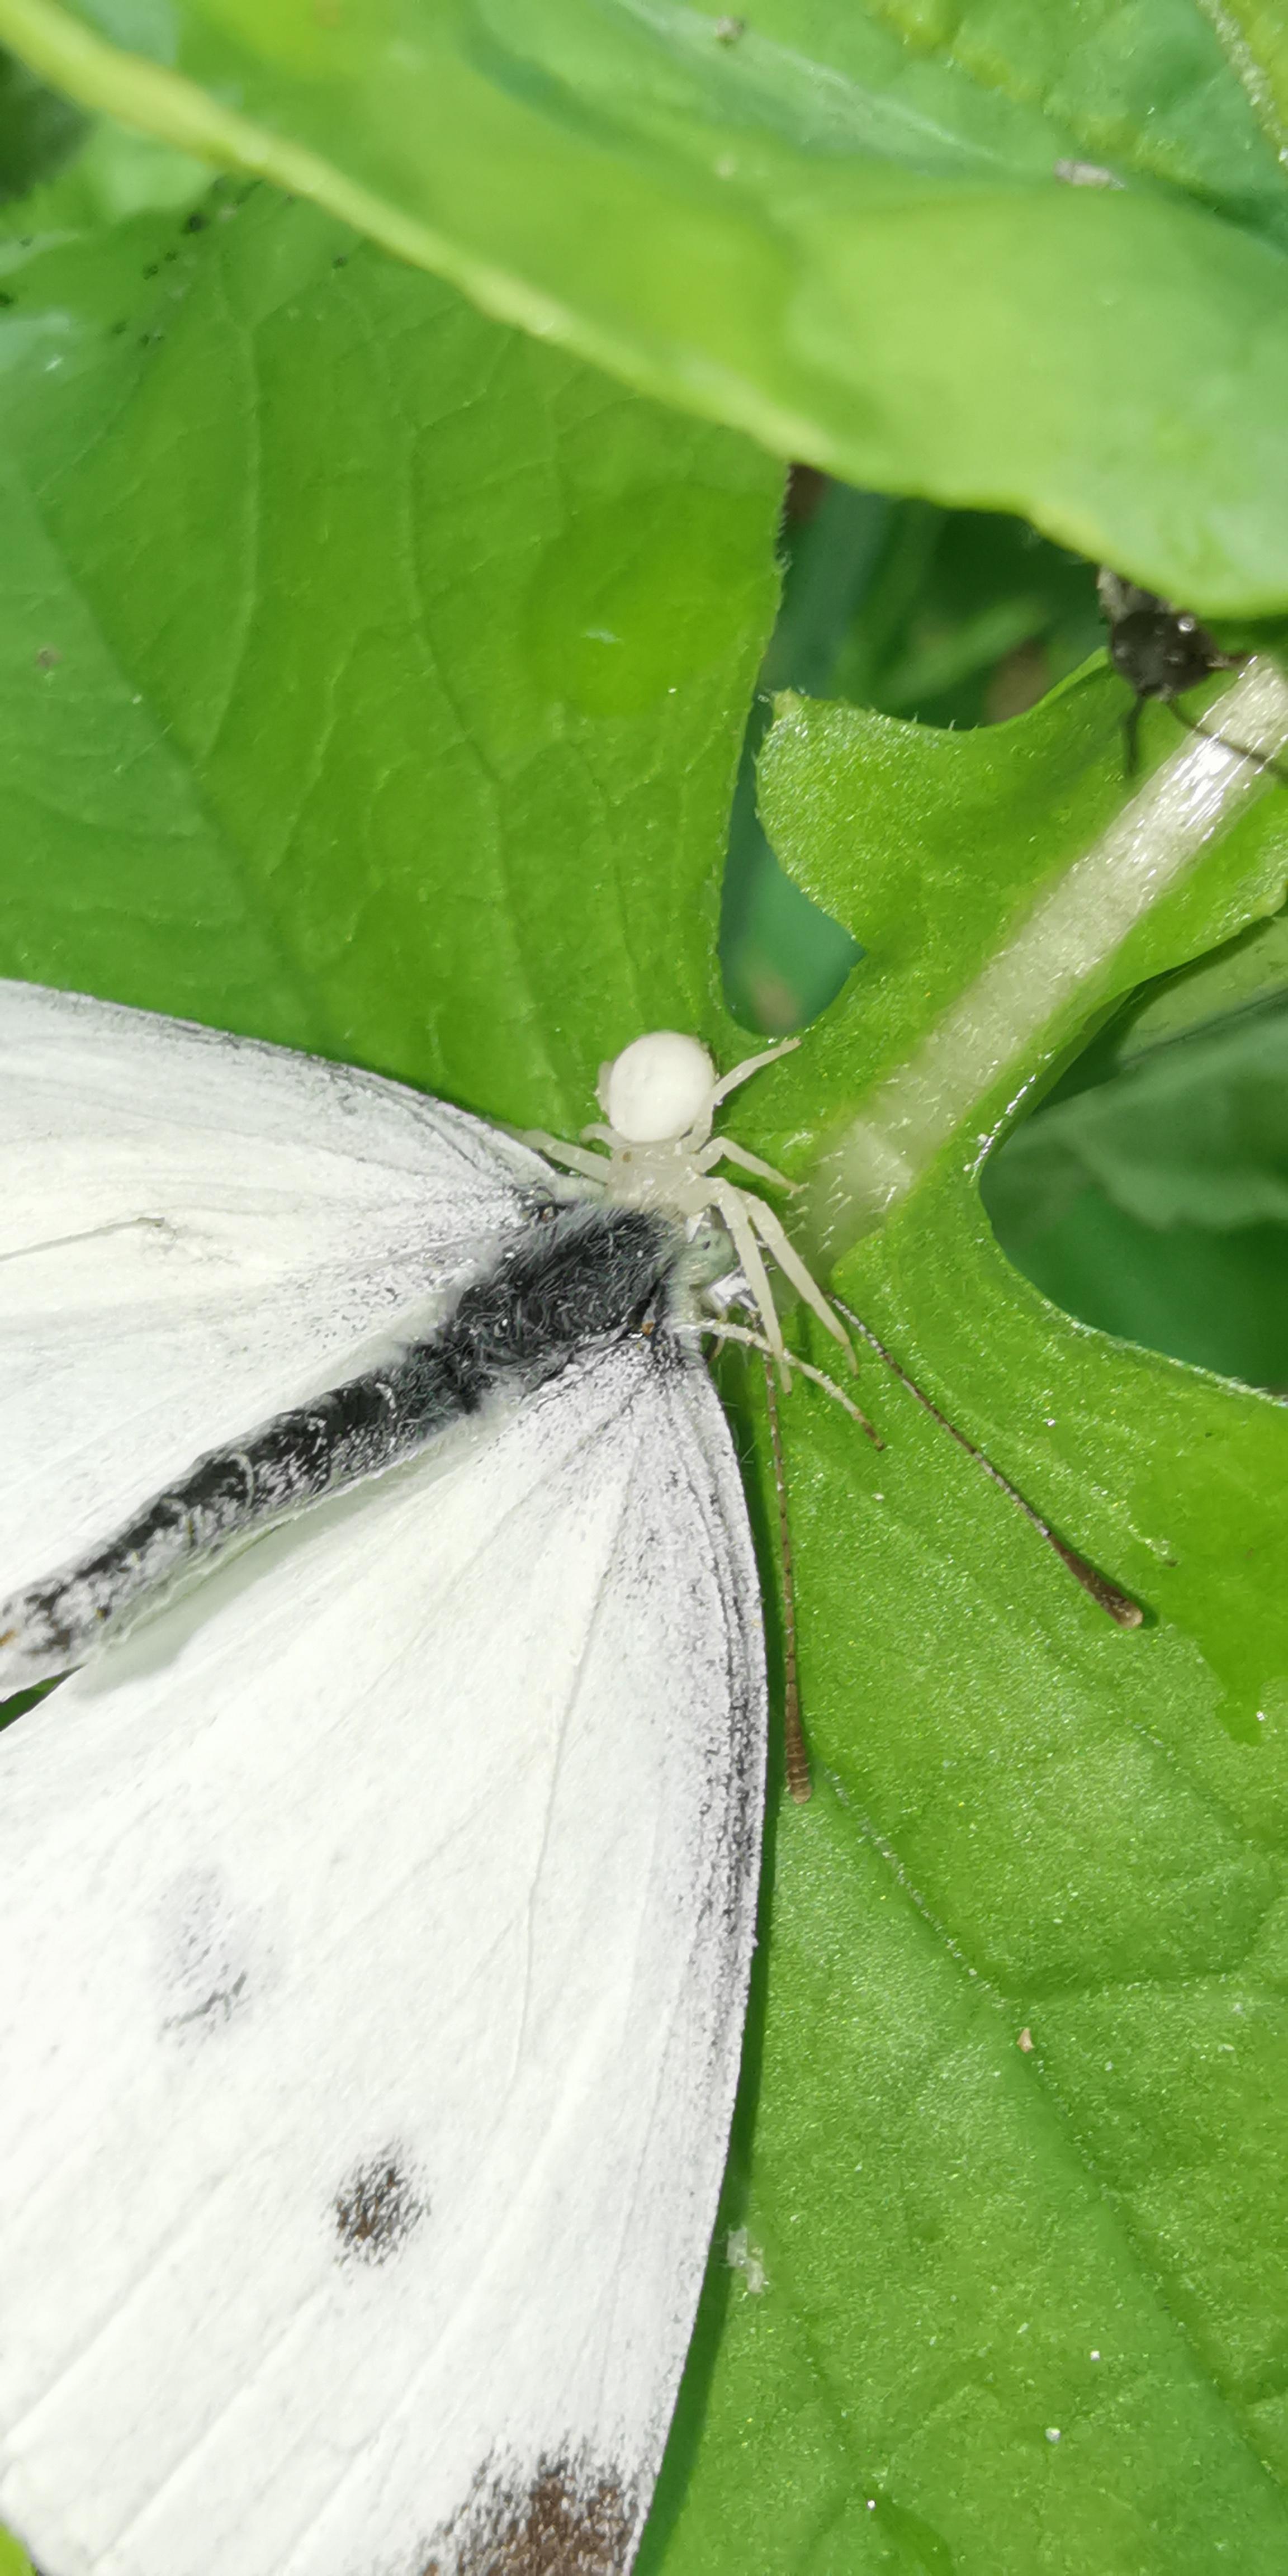
[[[762,1790],[698,1368],[585,1360],[0,1736],[0,2514],[46,2576],[608,2576]]]

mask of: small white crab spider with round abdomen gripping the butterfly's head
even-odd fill
[[[623,1208],[667,1208],[685,1218],[706,1216],[714,1208],[739,1257],[765,1342],[783,1370],[791,1365],[801,1368],[804,1363],[793,1363],[783,1347],[783,1327],[760,1247],[773,1255],[783,1278],[796,1288],[796,1296],[819,1316],[819,1324],[827,1324],[827,1332],[840,1342],[853,1365],[850,1334],[840,1316],[832,1314],[775,1211],[752,1190],[739,1190],[734,1180],[716,1180],[714,1164],[734,1162],[739,1172],[773,1180],[781,1190],[793,1190],[796,1182],[726,1136],[714,1139],[711,1123],[721,1100],[739,1082],[747,1082],[765,1064],[775,1064],[778,1056],[791,1054],[799,1043],[799,1038],[783,1038],[781,1046],[765,1048],[762,1056],[747,1056],[744,1064],[734,1064],[732,1074],[716,1074],[698,1038],[683,1038],[672,1028],[654,1028],[647,1038],[634,1038],[611,1064],[600,1064],[598,1103],[608,1126],[582,1128],[580,1146],[562,1144],[556,1136],[541,1131],[526,1136],[551,1162],[562,1162],[564,1170],[600,1182],[605,1198]],[[608,1162],[603,1151],[592,1154],[585,1146],[605,1146]]]

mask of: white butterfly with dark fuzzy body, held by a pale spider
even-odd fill
[[[562,1180],[0,987],[0,1690],[82,1664],[0,1736],[0,2517],[44,2576],[631,2566],[760,1855],[714,1200],[778,1324],[729,1082],[688,1038],[605,1077]]]

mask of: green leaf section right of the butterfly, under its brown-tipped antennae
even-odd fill
[[[1288,822],[1255,791],[1103,951],[1110,762],[1105,675],[974,737],[786,706],[765,819],[868,953],[778,1115],[791,1082],[840,1097],[848,1064],[871,1105],[935,1030],[958,1046],[1056,884],[1087,904],[1084,1018],[1278,899]],[[729,2190],[768,2287],[711,2280],[667,2576],[770,2563],[765,2532],[809,2576],[1270,2576],[1288,2548],[1288,1419],[1005,1262],[979,1151],[1072,1007],[1012,999],[1005,1066],[976,1059],[840,1283],[1146,1623],[1110,1628],[896,1381],[863,1373],[881,1455],[788,1406],[819,1793],[778,1819]]]

